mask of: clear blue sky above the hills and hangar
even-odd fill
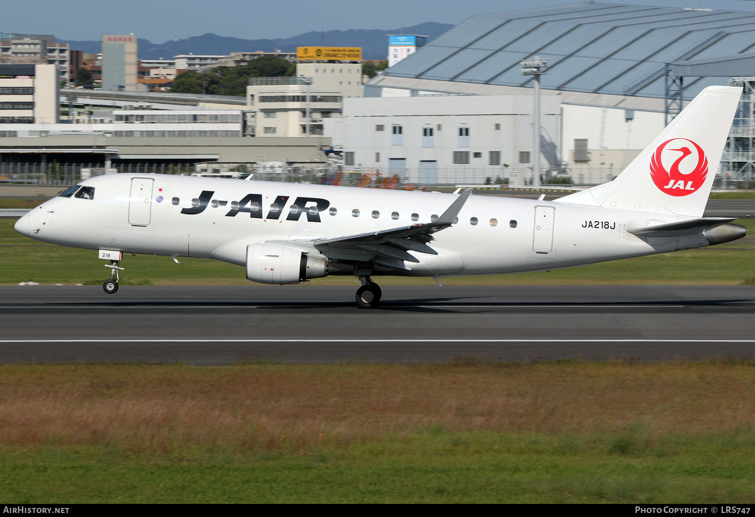
[[[5,2],[0,32],[93,40],[134,33],[151,42],[215,33],[244,39],[288,38],[312,30],[396,29],[428,21],[461,23],[474,14],[565,5],[567,0],[30,0]],[[632,5],[755,11],[746,0],[630,0]]]

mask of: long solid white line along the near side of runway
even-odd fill
[[[755,343],[755,339],[0,339],[0,343]]]

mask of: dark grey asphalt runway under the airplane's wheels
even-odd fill
[[[0,362],[755,358],[755,286],[0,286]]]

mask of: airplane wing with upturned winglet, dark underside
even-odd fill
[[[340,262],[374,262],[387,268],[408,270],[406,262],[420,262],[407,251],[437,255],[438,252],[427,246],[432,242],[433,234],[444,230],[457,220],[461,207],[467,202],[471,193],[467,188],[445,209],[437,221],[417,223],[399,228],[370,232],[367,234],[346,235],[328,239],[315,239],[307,242],[330,260]],[[303,243],[296,240],[297,243]]]

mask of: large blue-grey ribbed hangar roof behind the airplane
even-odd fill
[[[529,87],[519,61],[539,56],[550,58],[542,88],[664,98],[667,63],[753,52],[753,12],[579,3],[471,17],[383,76]],[[695,76],[684,83],[686,99],[726,84]]]

